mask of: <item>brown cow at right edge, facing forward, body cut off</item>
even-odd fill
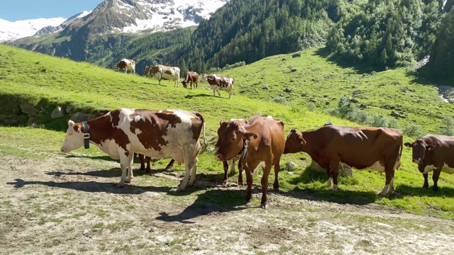
[[[423,174],[423,188],[428,188],[428,172],[433,171],[433,191],[438,191],[441,172],[454,174],[454,137],[424,135],[421,139],[404,144],[413,151],[413,162]]]

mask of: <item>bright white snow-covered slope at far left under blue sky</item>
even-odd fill
[[[66,18],[36,18],[25,21],[5,21],[0,18],[0,42],[34,35],[46,26],[58,26]]]

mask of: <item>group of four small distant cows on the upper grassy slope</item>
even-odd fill
[[[135,62],[134,60],[123,59],[118,64],[116,64],[115,69],[124,69],[125,74],[130,70],[131,74],[135,74]],[[143,73],[145,77],[155,77],[161,85],[161,80],[172,80],[174,81],[174,86],[179,86],[179,76],[180,70],[179,67],[167,67],[162,64],[157,64],[155,66],[146,66],[145,72]],[[233,82],[235,79],[230,77],[222,77],[218,74],[203,74],[200,79],[200,82],[208,82],[213,90],[213,96],[216,96],[216,91],[218,96],[221,96],[219,91],[228,91],[228,98],[232,98],[233,94]],[[194,89],[197,89],[197,84],[199,82],[199,74],[196,72],[187,72],[182,81],[183,87],[186,89],[187,85],[190,83],[190,89],[194,85]]]

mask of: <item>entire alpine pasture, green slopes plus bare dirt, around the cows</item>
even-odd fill
[[[267,57],[220,73],[236,79],[229,99],[226,91],[213,96],[208,84],[199,84],[196,90],[174,88],[170,81],[160,86],[157,79],[5,45],[0,45],[0,58],[0,170],[6,173],[0,185],[4,216],[0,246],[8,254],[441,253],[450,249],[454,176],[442,173],[437,192],[421,188],[423,177],[406,147],[395,174],[397,191],[389,198],[377,197],[384,175],[376,171],[341,175],[339,191],[333,192],[326,188],[326,174],[308,168],[307,154],[285,154],[279,192],[269,187],[268,210],[260,209],[261,171],[253,181],[253,206],[246,208],[245,186],[236,185],[238,171],[230,176],[228,186],[222,186],[222,164],[210,149],[219,122],[231,118],[272,115],[284,122],[285,135],[292,128],[310,130],[328,120],[358,126],[325,113],[346,94],[360,94],[358,103],[371,114],[389,116],[384,104],[399,108],[406,115],[396,120],[401,130],[419,125],[423,132],[438,132],[441,120],[454,107],[438,96],[436,88],[403,69],[365,73],[341,67],[317,50],[306,50],[300,57]],[[6,124],[11,115],[21,113],[24,102],[40,111],[38,128]],[[84,113],[115,108],[198,111],[206,120],[207,145],[199,154],[195,185],[176,191],[184,166],[165,170],[170,159],[153,162],[151,176],[138,171],[136,159],[132,183],[116,188],[112,183],[121,175],[119,163],[97,147],[60,153],[69,115],[50,118],[57,106]],[[404,142],[413,140],[404,137]],[[297,166],[289,168],[289,162]],[[433,232],[443,234],[446,245],[433,246]],[[345,233],[350,239],[339,237]],[[398,235],[403,243],[394,242]],[[419,243],[421,239],[427,241]]]

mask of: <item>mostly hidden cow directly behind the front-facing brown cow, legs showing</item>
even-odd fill
[[[243,120],[243,119],[231,119],[228,122],[225,122],[221,120],[221,123],[219,123],[219,128],[218,128],[218,142],[216,142],[216,145],[214,146],[216,151],[218,150],[219,146],[221,145],[221,137],[222,133],[224,130],[227,129],[228,125],[231,125],[231,123],[236,123],[237,125],[246,125],[248,124],[248,120]],[[244,144],[244,141],[243,141]],[[241,157],[241,152],[243,152],[243,149],[240,151],[239,154],[237,154],[235,157],[231,159],[231,169],[230,169],[230,174],[234,175],[235,174],[235,163],[238,161],[238,184],[243,185],[243,166],[241,165],[240,157]],[[228,161],[224,160],[223,162],[223,168],[224,168],[224,179],[223,179],[223,184],[226,185],[228,183]]]

